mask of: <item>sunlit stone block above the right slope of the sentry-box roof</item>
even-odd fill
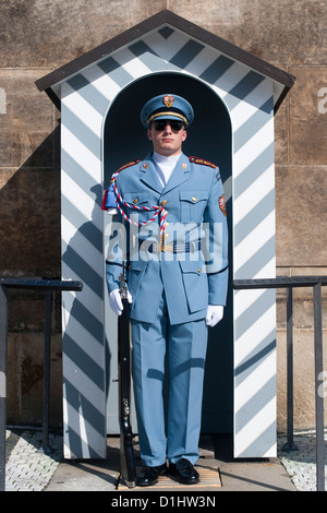
[[[324,0],[179,0],[168,9],[271,64],[326,64]]]

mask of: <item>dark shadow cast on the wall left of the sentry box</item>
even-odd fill
[[[17,169],[0,174],[0,275],[61,274],[60,126]],[[45,295],[9,290],[8,422],[40,426]],[[62,426],[61,297],[55,295],[50,426]]]

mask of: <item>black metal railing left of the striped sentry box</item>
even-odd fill
[[[44,290],[46,296],[44,343],[44,405],[43,451],[49,452],[49,404],[50,404],[50,341],[53,291],[82,290],[82,282],[56,279],[23,279],[0,277],[0,491],[5,490],[5,428],[7,428],[7,349],[9,288]]]

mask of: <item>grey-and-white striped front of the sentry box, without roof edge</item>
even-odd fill
[[[61,100],[62,297],[66,458],[106,457],[102,131],[136,80],[187,74],[223,102],[232,127],[233,278],[275,277],[274,106],[282,85],[169,23],[53,84]],[[274,290],[233,293],[234,456],[276,455]],[[112,377],[111,377],[112,378]]]

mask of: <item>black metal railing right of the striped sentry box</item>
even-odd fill
[[[323,374],[323,314],[322,287],[327,276],[293,276],[266,279],[235,279],[233,288],[286,288],[287,289],[287,443],[284,451],[294,451],[293,441],[293,288],[313,287],[314,305],[314,360],[315,360],[315,422],[316,422],[316,489],[325,491],[325,440],[324,440],[324,395]]]

